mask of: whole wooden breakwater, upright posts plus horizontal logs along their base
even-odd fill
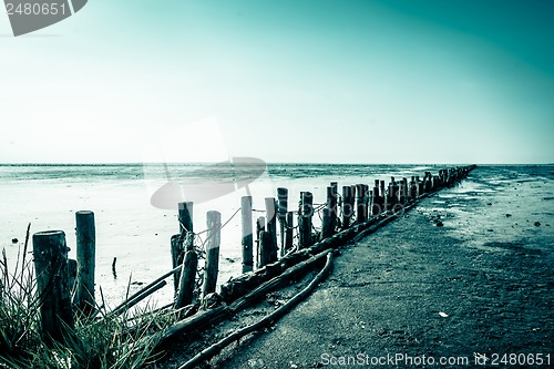
[[[223,284],[218,294],[215,291],[220,232],[230,218],[222,223],[218,212],[208,212],[207,228],[195,233],[192,222],[194,204],[179,203],[179,233],[171,238],[173,269],[130,296],[110,315],[140,303],[166,286],[166,279],[173,276],[175,299],[165,308],[181,311],[183,320],[161,332],[162,341],[177,332],[222,319],[322,263],[329,249],[363,237],[402,215],[418,199],[452,186],[474,167],[441,170],[437,175],[425,172],[410,181],[391,177],[388,185],[376,180],[372,187],[368,184],[345,185],[340,192],[338,183],[332,182],[327,187],[325,203],[315,204],[312,194],[302,192],[295,211],[289,209],[288,189],[280,187],[276,198],[264,199],[264,215],[258,217],[254,216],[259,211],[253,208],[252,196],[244,196],[239,209],[232,216],[238,213],[242,216],[243,274]],[[321,217],[319,229],[314,227],[315,215]],[[78,212],[75,222],[76,262],[68,259],[62,230],[33,235],[43,334],[55,340],[62,340],[64,328],[73,327],[75,314],[91,316],[98,311],[94,299],[94,214]],[[199,259],[205,259],[202,273],[198,270]],[[202,301],[203,308],[199,309],[195,301]],[[220,305],[222,301],[225,304]]]

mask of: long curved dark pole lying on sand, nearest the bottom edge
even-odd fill
[[[229,344],[239,340],[242,337],[252,334],[256,330],[259,330],[264,327],[267,327],[271,325],[273,322],[277,321],[280,319],[283,316],[285,316],[288,311],[290,311],[295,306],[297,306],[300,301],[305,300],[315,289],[316,287],[325,279],[327,276],[331,273],[332,269],[332,254],[331,253],[326,253],[327,255],[327,263],[321,269],[321,271],[318,273],[318,275],[311,280],[311,283],[304,288],[300,293],[295,295],[290,300],[288,300],[285,305],[280,306],[278,309],[273,311],[271,314],[267,315],[264,317],[261,320],[247,326],[245,328],[242,328],[229,336],[225,337],[220,341],[212,345],[211,347],[206,348],[195,357],[193,357],[191,360],[178,367],[178,369],[189,369],[196,367],[198,363],[205,360],[209,360],[217,353],[219,353],[225,347],[227,347]]]

